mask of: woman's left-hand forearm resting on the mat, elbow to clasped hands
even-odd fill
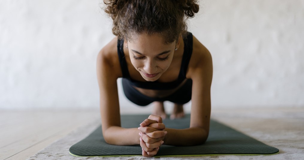
[[[140,144],[139,130],[137,128],[122,128],[111,126],[103,132],[105,141],[114,145],[137,145]]]

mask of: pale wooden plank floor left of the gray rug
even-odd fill
[[[0,111],[0,160],[27,159],[98,117],[99,110]]]

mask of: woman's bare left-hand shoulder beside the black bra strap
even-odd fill
[[[112,73],[113,76],[121,77],[120,63],[117,53],[117,37],[114,37],[98,53],[97,74]]]

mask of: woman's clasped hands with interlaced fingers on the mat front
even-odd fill
[[[140,123],[140,146],[144,157],[153,157],[157,154],[159,147],[164,143],[167,131],[160,116],[150,115]]]

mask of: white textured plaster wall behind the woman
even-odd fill
[[[0,1],[0,108],[98,108],[96,55],[113,37],[99,3]],[[202,1],[189,30],[213,57],[212,106],[303,107],[303,28],[303,0]]]

